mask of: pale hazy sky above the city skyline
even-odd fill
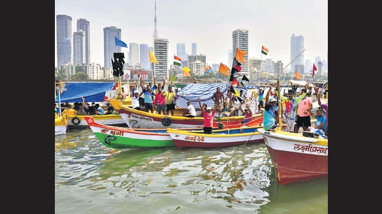
[[[56,15],[72,17],[72,34],[77,19],[90,21],[90,61],[103,63],[103,28],[122,29],[122,41],[153,46],[154,0],[55,0]],[[52,17],[53,18],[53,17]],[[158,38],[169,41],[169,64],[176,44],[184,43],[191,54],[207,56],[208,64],[231,64],[232,31],[249,30],[249,57],[290,63],[290,37],[304,36],[305,60],[328,53],[328,1],[319,0],[156,0]],[[55,27],[56,42],[56,27]],[[261,46],[268,55],[261,54]],[[55,43],[55,50],[57,50]],[[127,56],[128,48],[122,48]],[[57,51],[55,52],[57,59]],[[57,66],[57,60],[55,62]],[[286,70],[289,70],[290,67]]]

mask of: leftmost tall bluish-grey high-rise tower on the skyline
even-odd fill
[[[57,67],[72,62],[72,17],[56,16]]]

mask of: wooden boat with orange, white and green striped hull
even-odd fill
[[[85,116],[84,119],[94,135],[97,136],[97,139],[108,148],[163,148],[176,146],[167,133],[167,129],[133,129],[99,124],[90,116]],[[216,128],[213,132],[225,132],[225,130],[233,127],[248,127],[249,124],[260,125],[261,123],[262,120],[251,121],[243,123],[241,126],[232,125],[222,130]],[[182,130],[203,132],[203,127],[183,128]]]

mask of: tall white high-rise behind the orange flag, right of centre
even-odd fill
[[[233,30],[232,31],[232,51],[233,51],[233,57],[236,56],[236,49],[239,48],[241,51],[247,52],[246,55],[244,55],[244,62],[242,62],[242,74],[245,74],[248,76],[248,30]],[[233,62],[233,59],[232,59]]]

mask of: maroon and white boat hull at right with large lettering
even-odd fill
[[[276,181],[290,184],[328,176],[328,141],[290,132],[263,134],[269,156],[274,164]]]

